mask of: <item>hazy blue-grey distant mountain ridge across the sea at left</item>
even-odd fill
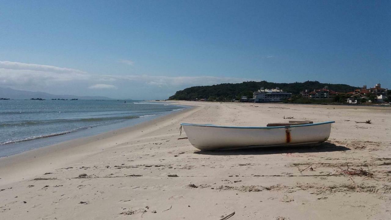
[[[53,95],[46,92],[31,92],[24,90],[16,90],[12,88],[0,87],[0,98],[9,99],[112,99],[104,96],[73,96],[73,95]]]

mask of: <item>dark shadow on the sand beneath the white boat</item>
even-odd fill
[[[351,150],[344,146],[338,146],[330,142],[323,142],[319,146],[290,146],[290,147],[264,147],[264,148],[246,148],[237,150],[211,150],[211,151],[195,151],[196,154],[204,155],[267,155],[267,154],[281,154],[281,153],[318,153],[318,152],[332,152],[332,151],[346,151]]]

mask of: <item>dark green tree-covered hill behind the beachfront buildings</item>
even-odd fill
[[[353,87],[346,84],[329,84],[319,83],[318,81],[305,81],[304,83],[271,83],[267,81],[260,82],[242,82],[242,83],[223,83],[212,86],[196,86],[185,88],[169,97],[169,100],[193,100],[193,99],[210,99],[210,100],[231,100],[240,96],[252,97],[253,92],[264,88],[276,88],[291,92],[292,94],[299,94],[300,91],[314,90],[328,86],[328,89],[337,92],[352,92],[359,87]]]

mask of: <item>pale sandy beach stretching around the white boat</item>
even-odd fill
[[[0,219],[391,219],[391,108],[179,104],[194,107],[1,158]],[[199,151],[178,139],[182,122],[263,126],[284,115],[336,123],[312,148]]]

